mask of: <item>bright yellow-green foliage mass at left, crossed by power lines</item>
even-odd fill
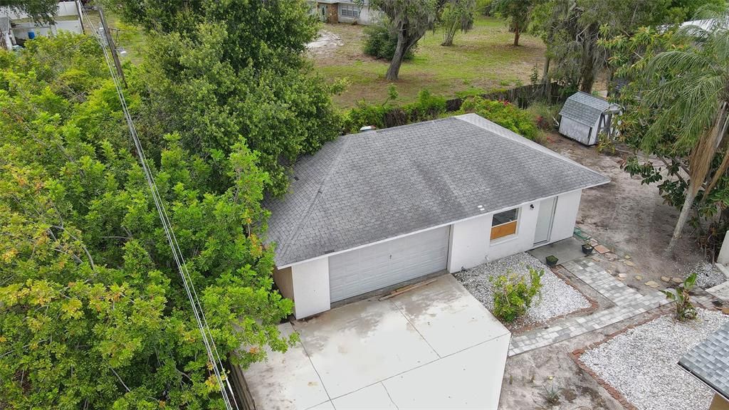
[[[0,52],[0,402],[222,408],[107,75],[84,36]],[[143,101],[130,90],[131,109]],[[292,302],[262,244],[257,152],[238,142],[206,161],[179,134],[145,144],[220,355],[242,346],[230,358],[246,366],[286,350],[296,339],[276,325]]]

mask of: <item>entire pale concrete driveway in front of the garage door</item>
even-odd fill
[[[258,409],[496,409],[510,333],[450,274],[306,322],[246,382]]]

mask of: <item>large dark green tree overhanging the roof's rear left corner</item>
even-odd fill
[[[340,134],[331,96],[341,86],[303,55],[319,27],[305,1],[114,2],[155,31],[132,80],[148,134],[176,132],[209,163],[244,142],[260,152],[275,194],[288,189],[291,163]]]

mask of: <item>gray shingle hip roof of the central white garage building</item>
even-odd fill
[[[342,136],[294,176],[264,202],[279,267],[609,182],[475,114]]]

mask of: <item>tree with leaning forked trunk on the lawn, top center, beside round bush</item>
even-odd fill
[[[436,18],[436,0],[370,0],[370,7],[380,9],[389,18],[397,32],[397,46],[385,78],[397,81],[402,60],[418,40],[433,28]]]

